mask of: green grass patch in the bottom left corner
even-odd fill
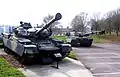
[[[25,77],[20,71],[12,67],[4,58],[0,57],[0,77]]]

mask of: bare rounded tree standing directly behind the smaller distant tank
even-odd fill
[[[81,12],[80,14],[76,15],[75,18],[71,22],[71,26],[74,30],[85,32],[85,28],[87,26],[87,13]]]

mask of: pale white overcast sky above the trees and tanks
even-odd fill
[[[19,25],[19,21],[41,24],[44,16],[60,12],[60,22],[66,27],[80,12],[103,15],[119,7],[120,0],[0,0],[0,25]]]

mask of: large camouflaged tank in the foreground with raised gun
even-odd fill
[[[52,39],[52,23],[62,18],[57,13],[42,28],[33,28],[30,23],[20,22],[13,33],[3,33],[3,44],[6,52],[14,52],[23,64],[39,60],[42,63],[61,61],[72,50],[70,44],[60,40]],[[8,51],[9,50],[9,51]]]

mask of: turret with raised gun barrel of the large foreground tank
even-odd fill
[[[62,15],[57,13],[53,19],[51,19],[42,28],[32,28],[30,23],[20,21],[20,26],[16,28],[15,34],[19,37],[33,37],[33,38],[48,38],[52,34],[52,30],[48,27],[57,20],[60,20]]]

